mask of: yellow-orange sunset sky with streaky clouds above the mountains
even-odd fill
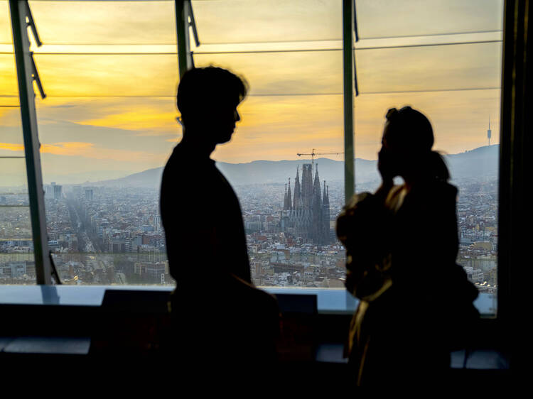
[[[251,89],[234,138],[213,158],[242,163],[296,159],[312,148],[343,151],[341,4],[193,1],[202,43],[192,45],[195,65],[228,67]],[[489,118],[497,143],[502,0],[356,4],[358,158],[376,158],[385,112],[406,104],[429,116],[438,150],[486,145]],[[181,137],[173,1],[30,5],[44,43],[32,50],[48,94],[36,97],[45,182],[101,180],[164,165]],[[11,40],[8,2],[0,1],[4,156],[23,155]],[[13,183],[9,173],[2,179]]]

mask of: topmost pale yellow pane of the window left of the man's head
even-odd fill
[[[174,1],[30,1],[45,45],[175,44]]]

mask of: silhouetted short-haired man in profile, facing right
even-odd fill
[[[210,159],[230,141],[246,93],[239,77],[217,67],[189,70],[178,86],[183,138],[163,171],[161,220],[177,283],[171,341],[188,365],[275,359],[276,300],[252,285],[239,201]]]

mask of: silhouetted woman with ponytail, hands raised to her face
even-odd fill
[[[389,109],[378,169],[382,185],[355,195],[338,217],[346,288],[360,299],[349,362],[359,386],[441,384],[450,352],[468,345],[475,286],[456,264],[457,189],[419,111]],[[394,185],[394,177],[404,180]]]

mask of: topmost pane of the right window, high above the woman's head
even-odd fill
[[[355,0],[360,38],[501,31],[503,0]]]

